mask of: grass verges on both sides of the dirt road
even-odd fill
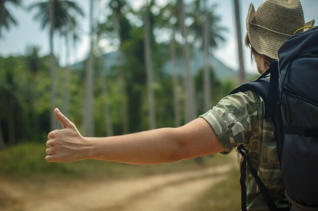
[[[202,162],[190,159],[160,165],[131,165],[99,160],[48,163],[44,160],[45,149],[45,145],[25,143],[0,150],[0,177],[10,178],[10,181],[20,182],[21,184],[37,186],[47,183],[50,185],[55,184],[56,178],[59,181],[61,180],[62,184],[68,184],[70,180],[83,182],[94,179],[135,178],[199,170],[235,162],[233,156],[216,154],[202,158]],[[195,202],[187,204],[183,210],[240,210],[239,176],[238,168],[233,168],[225,181],[212,186],[208,191],[198,196]],[[16,203],[9,199],[2,199],[0,192],[0,202]]]

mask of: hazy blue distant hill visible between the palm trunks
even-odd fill
[[[110,52],[110,53],[103,55],[103,57],[105,59],[105,67],[107,69],[110,69],[111,67],[116,66],[117,55],[118,55],[117,51]],[[184,68],[183,64],[184,64],[183,60],[179,59],[178,65],[177,65],[178,72],[181,72],[182,69]],[[218,60],[217,58],[215,58],[212,55],[210,55],[210,66],[213,67],[215,74],[219,79],[235,78],[238,76],[237,71],[228,67],[227,65],[225,65],[224,63],[222,63],[220,60]],[[75,63],[75,64],[71,65],[71,67],[73,69],[82,69],[83,62]],[[200,70],[204,67],[204,55],[203,55],[202,51],[196,51],[195,53],[193,53],[192,59],[190,61],[190,67],[191,67],[191,71],[193,74],[196,74],[198,70]],[[171,72],[172,72],[171,61],[168,60],[163,68],[167,73],[171,74]],[[249,73],[246,73],[246,74],[247,74],[246,75],[247,77],[250,76]]]

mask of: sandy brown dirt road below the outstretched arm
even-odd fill
[[[3,211],[182,210],[212,185],[227,178],[233,164],[200,171],[114,181],[21,184],[0,177]]]

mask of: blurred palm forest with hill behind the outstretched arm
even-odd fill
[[[55,107],[85,136],[179,126],[238,84],[236,72],[211,54],[227,28],[208,1],[145,1],[138,11],[125,1],[91,1],[89,14],[72,1],[5,1],[1,34],[17,24],[9,6],[23,6],[48,31],[50,54],[40,56],[41,47],[28,45],[24,55],[0,59],[2,147],[43,142],[59,128]],[[79,17],[89,19],[90,51],[71,64],[81,48]],[[163,36],[170,39],[160,41]],[[60,40],[64,48],[54,49]],[[105,42],[115,51],[105,53]]]

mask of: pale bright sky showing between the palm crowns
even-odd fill
[[[42,0],[22,0],[24,8],[27,6],[39,2]],[[72,53],[70,62],[77,62],[83,60],[89,51],[89,0],[74,0],[84,10],[86,17],[79,18],[81,25],[81,41],[77,44],[76,53]],[[145,3],[146,0],[131,0],[133,7],[138,8]],[[167,0],[157,0],[158,3],[165,4]],[[185,0],[185,3],[189,1]],[[257,9],[264,0],[240,0],[240,19],[241,19],[241,32],[242,37],[245,37],[246,28],[245,20],[249,4],[252,3]],[[238,70],[238,53],[237,53],[237,41],[236,41],[236,26],[235,26],[235,13],[234,13],[234,0],[209,0],[210,4],[216,4],[215,13],[220,16],[220,25],[228,29],[223,34],[226,38],[225,43],[221,43],[218,49],[215,49],[213,54],[216,58],[224,62],[227,66]],[[304,10],[305,21],[312,19],[316,20],[318,25],[318,0],[302,0],[302,7]],[[12,26],[10,30],[3,30],[3,38],[0,40],[0,55],[22,55],[26,51],[27,46],[39,46],[41,48],[40,54],[46,55],[49,53],[49,39],[48,30],[41,30],[40,23],[34,20],[36,11],[26,11],[23,8],[9,7],[11,14],[16,18],[18,25]],[[103,12],[102,8],[98,8],[96,13]],[[113,49],[107,46],[105,43],[105,52],[110,52]],[[54,51],[60,54],[60,58],[63,58],[65,52],[63,40],[61,38],[55,38]],[[66,61],[61,59],[61,65]],[[256,65],[251,64],[250,51],[244,48],[244,66],[247,72],[257,73]]]

